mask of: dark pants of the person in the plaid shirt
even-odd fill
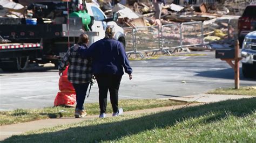
[[[73,84],[73,87],[76,90],[76,101],[77,101],[76,109],[84,110],[84,99],[85,99],[86,91],[89,84],[90,82]]]

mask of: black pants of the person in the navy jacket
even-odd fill
[[[118,112],[118,90],[122,75],[98,74],[95,76],[99,87],[100,113],[106,113],[107,91],[110,92],[110,101],[113,112]]]

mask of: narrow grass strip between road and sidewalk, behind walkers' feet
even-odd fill
[[[158,108],[163,106],[181,105],[186,102],[174,102],[169,100],[157,99],[127,99],[120,100],[119,107],[124,111],[140,110]],[[99,114],[99,104],[90,103],[85,105],[88,115]],[[75,108],[64,108],[61,106],[43,108],[43,109],[16,109],[14,111],[0,111],[0,125],[9,125],[16,123],[23,123],[26,121],[60,118],[60,117],[74,117]],[[111,103],[107,104],[107,113],[112,112]]]

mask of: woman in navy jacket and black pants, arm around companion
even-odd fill
[[[105,38],[93,43],[89,48],[80,48],[82,57],[92,58],[92,73],[95,75],[99,87],[100,118],[106,116],[107,92],[110,92],[110,101],[113,108],[112,116],[119,116],[123,109],[118,109],[118,90],[122,76],[129,74],[132,79],[132,68],[125,53],[124,46],[113,39],[114,26],[107,26]]]

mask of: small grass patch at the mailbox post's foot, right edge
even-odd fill
[[[240,87],[240,89],[234,88],[219,88],[213,91],[207,92],[207,94],[223,94],[223,95],[251,95],[256,96],[256,85],[253,87]]]

